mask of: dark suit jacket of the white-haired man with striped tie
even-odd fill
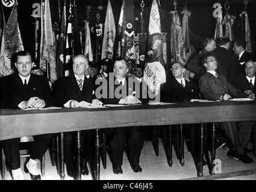
[[[94,85],[90,78],[84,77],[83,89],[81,91],[74,75],[64,77],[58,82],[54,94],[54,106],[63,107],[69,100],[92,103],[93,98],[95,98],[93,91]]]

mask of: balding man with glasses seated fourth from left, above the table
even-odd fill
[[[185,68],[181,63],[172,64],[172,74],[175,79],[166,82],[164,86],[164,91],[161,96],[163,101],[186,101],[192,98],[199,98],[198,88],[192,83],[184,79]]]

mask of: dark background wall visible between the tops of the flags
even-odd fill
[[[66,0],[67,8],[70,0]],[[114,12],[114,19],[116,22],[119,20],[120,7],[122,4],[121,0],[110,0]],[[33,50],[34,49],[34,19],[31,17],[33,8],[32,5],[35,2],[40,2],[40,0],[18,0],[18,19],[19,26],[22,35],[23,45],[25,49]],[[63,7],[63,0],[60,0],[61,11]],[[83,26],[83,20],[86,19],[86,5],[90,4],[94,8],[90,13],[90,25],[94,25],[96,22],[96,7],[99,5],[100,0],[76,0],[76,5],[78,9],[78,20],[81,26]],[[102,1],[107,5],[107,0]],[[140,18],[140,0],[134,1],[134,19],[135,17]],[[149,22],[149,13],[151,10],[152,0],[144,0],[145,2],[145,11],[144,11],[144,21],[145,28],[148,29]],[[181,12],[184,0],[178,0],[178,13]],[[191,16],[189,17],[189,28],[190,28],[190,41],[192,44],[197,46],[197,49],[202,48],[202,38],[213,37],[214,29],[216,24],[216,19],[213,17],[213,4],[220,2],[222,7],[226,0],[186,0],[187,7],[192,11]],[[236,38],[241,37],[241,19],[239,14],[243,10],[243,0],[229,0],[230,10],[229,14],[232,14],[236,17],[236,23],[234,24],[234,34]],[[52,22],[60,23],[59,13],[58,13],[58,1],[50,0],[51,3],[51,14]],[[173,1],[172,0],[160,0],[160,5],[162,9],[163,20],[161,20],[163,32],[169,32],[170,30],[170,15],[169,11],[173,10]],[[223,13],[225,14],[225,9],[223,8]],[[101,18],[100,22],[104,23],[105,20],[105,11],[100,11]],[[8,11],[5,11],[5,14],[8,14]],[[255,42],[256,39],[256,1],[248,0],[247,8],[249,22],[251,26],[252,39]],[[182,16],[180,15],[180,19]],[[134,21],[136,32],[139,32],[139,21]],[[254,43],[255,44],[255,43]]]

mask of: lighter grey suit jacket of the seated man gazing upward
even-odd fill
[[[227,82],[222,75],[215,77],[211,73],[205,73],[199,78],[199,90],[207,100],[219,100],[223,94],[230,94],[233,98],[246,98],[247,95]]]

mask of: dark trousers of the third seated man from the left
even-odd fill
[[[121,166],[125,143],[128,144],[130,164],[139,164],[144,139],[138,128],[108,128],[113,166]]]

